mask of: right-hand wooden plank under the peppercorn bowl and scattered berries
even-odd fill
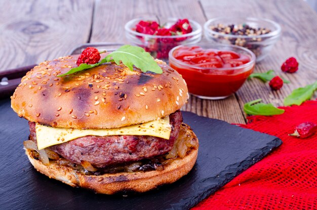
[[[283,99],[298,87],[317,80],[317,14],[304,1],[208,1],[201,0],[208,19],[219,16],[263,17],[274,20],[282,26],[282,36],[270,54],[256,64],[255,72],[274,69],[275,73],[291,81],[279,91],[270,90],[268,84],[257,79],[247,81],[237,92],[241,107],[245,102],[262,98],[275,106],[283,106]],[[223,9],[225,8],[225,9]],[[288,57],[296,57],[300,63],[295,74],[285,74],[281,65]]]

